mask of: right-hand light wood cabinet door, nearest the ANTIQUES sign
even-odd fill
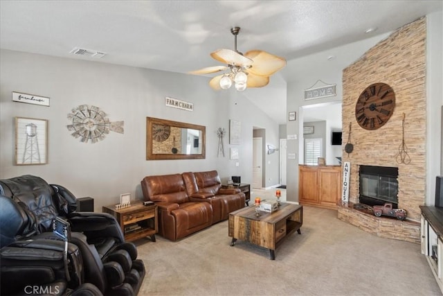
[[[320,204],[334,207],[340,198],[340,170],[320,168],[318,171],[318,199]]]

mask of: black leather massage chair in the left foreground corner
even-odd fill
[[[1,295],[54,285],[58,295],[138,294],[145,266],[134,243],[113,216],[76,207],[70,191],[40,177],[0,180]],[[66,241],[53,232],[60,218],[71,228]]]

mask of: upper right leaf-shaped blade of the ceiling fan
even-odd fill
[[[248,72],[258,76],[269,77],[286,66],[286,60],[284,60],[284,58],[266,53],[266,51],[248,51],[245,56],[254,61],[253,66],[248,69]]]

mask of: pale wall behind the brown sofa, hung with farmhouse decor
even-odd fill
[[[278,123],[235,89],[213,91],[207,77],[8,50],[1,50],[0,58],[0,178],[43,177],[78,198],[91,196],[96,211],[118,202],[121,193],[141,198],[140,181],[146,175],[217,169],[222,180],[241,175],[242,182],[251,182],[253,126],[266,128],[277,143]],[[12,92],[47,96],[51,106],[12,102]],[[165,96],[194,103],[195,110],[166,107]],[[110,132],[94,144],[71,137],[67,114],[82,104],[100,107],[110,121],[125,121],[125,133]],[[48,164],[14,165],[15,116],[48,119]],[[206,159],[147,161],[146,116],[205,125]],[[242,124],[239,166],[229,159],[229,119]],[[217,157],[217,128],[227,132],[225,157]],[[272,174],[278,180],[278,173]]]

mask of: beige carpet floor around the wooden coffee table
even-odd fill
[[[379,238],[303,207],[302,234],[275,251],[237,241],[228,221],[175,243],[137,242],[147,267],[139,295],[442,295],[420,246]]]

